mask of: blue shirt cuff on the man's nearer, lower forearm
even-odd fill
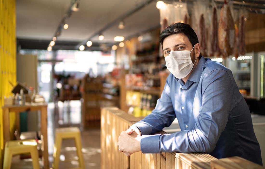
[[[143,135],[140,142],[142,153],[160,153],[160,136],[161,134]]]

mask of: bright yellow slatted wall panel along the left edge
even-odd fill
[[[16,83],[16,5],[15,0],[0,1],[0,106],[4,96],[11,95],[12,86]],[[0,109],[0,168],[2,168],[3,119]],[[10,131],[14,132],[15,114],[10,114]]]

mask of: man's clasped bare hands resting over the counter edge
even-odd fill
[[[130,126],[126,132],[122,131],[117,142],[119,152],[123,152],[129,157],[131,154],[141,151],[141,136],[142,134],[136,126]]]

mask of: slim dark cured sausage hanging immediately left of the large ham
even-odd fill
[[[211,43],[210,43],[210,56],[218,55],[219,47],[218,47],[218,21],[217,21],[217,10],[213,8],[213,16],[212,16],[212,30],[211,30]]]

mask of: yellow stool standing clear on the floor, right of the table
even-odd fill
[[[81,145],[81,134],[78,127],[66,127],[66,128],[57,128],[55,129],[55,142],[53,149],[53,157],[54,157],[54,169],[59,168],[59,156],[61,150],[61,143],[63,139],[74,138],[77,149],[77,156],[79,160],[80,168],[84,167],[83,153],[82,153],[82,145]]]

